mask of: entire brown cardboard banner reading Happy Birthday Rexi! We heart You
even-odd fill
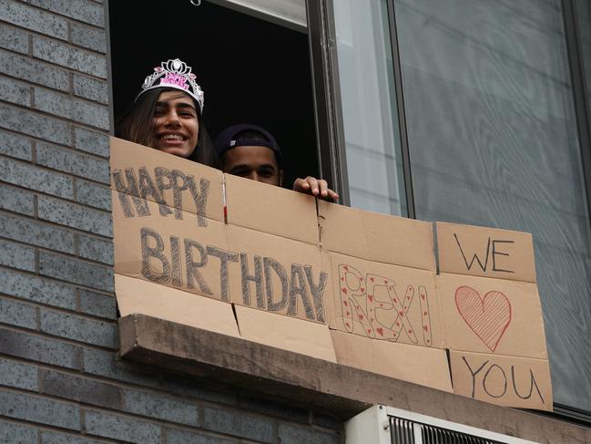
[[[110,166],[121,315],[552,408],[531,235],[437,222],[436,275],[432,223],[316,201],[125,140],[111,140]]]

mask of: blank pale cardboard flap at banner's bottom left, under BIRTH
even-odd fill
[[[232,305],[228,303],[117,273],[115,290],[121,316],[139,313],[222,335],[240,336]]]

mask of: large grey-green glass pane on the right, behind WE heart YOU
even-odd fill
[[[591,243],[560,0],[395,0],[417,218],[532,232],[555,402],[591,410]]]

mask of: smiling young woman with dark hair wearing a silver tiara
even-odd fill
[[[203,91],[191,67],[170,59],[146,77],[133,105],[117,121],[116,136],[218,167],[202,112]]]

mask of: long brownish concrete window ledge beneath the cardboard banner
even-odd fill
[[[119,319],[121,356],[347,419],[373,404],[543,443],[591,442],[591,429],[147,315]]]

